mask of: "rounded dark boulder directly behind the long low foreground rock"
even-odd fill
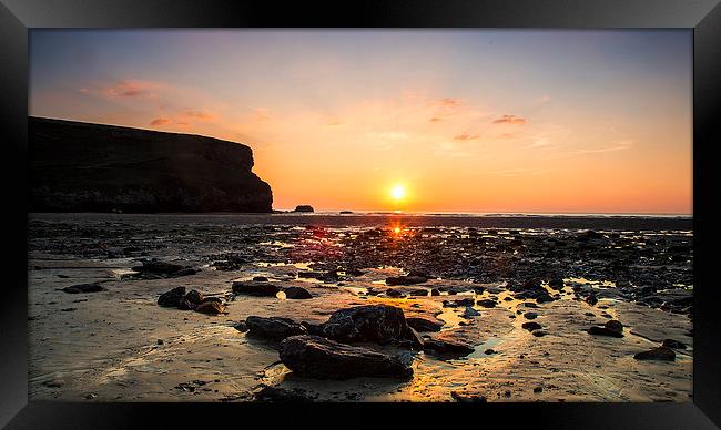
[[[323,335],[338,341],[370,341],[382,345],[417,340],[414,330],[406,322],[403,309],[388,305],[365,305],[336,310],[323,324]]]

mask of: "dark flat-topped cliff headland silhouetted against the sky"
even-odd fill
[[[29,117],[31,212],[270,213],[240,143]]]

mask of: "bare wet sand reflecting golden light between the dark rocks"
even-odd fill
[[[692,400],[693,339],[688,315],[631,303],[611,285],[568,276],[560,289],[544,284],[559,299],[532,304],[532,308],[525,303],[534,300],[514,298],[502,280],[429,279],[394,288],[407,293],[441,287],[457,294],[389,298],[384,280],[404,274],[400,267],[358,267],[362,275],[337,281],[298,277],[308,263],[293,258],[250,258],[219,269],[213,265],[217,253],[237,252],[231,243],[241,240],[242,232],[234,231],[232,240],[221,240],[220,246],[212,235],[195,234],[187,226],[159,234],[151,227],[121,228],[115,221],[78,224],[72,218],[49,218],[34,223],[28,262],[33,400],[250,401],[264,386],[294,390],[315,401],[454,401],[474,395],[487,401]],[[103,229],[108,237],[98,238],[93,228]],[[113,240],[138,250],[123,255],[108,252]],[[95,249],[98,243],[106,254],[85,252]],[[254,246],[268,247],[273,255],[299,247],[292,240],[260,244]],[[148,257],[200,272],[170,278],[128,278],[130,267]],[[313,298],[233,296],[233,280],[255,276],[303,287]],[[94,281],[101,281],[105,290],[60,290]],[[227,314],[209,316],[158,306],[159,295],[177,286],[222,298]],[[483,287],[481,294],[474,290],[478,287]],[[367,294],[368,288],[375,295]],[[579,298],[578,293],[588,289],[598,291],[593,305]],[[463,298],[494,298],[498,305],[474,305],[478,316],[464,316],[465,307],[444,306],[444,300]],[[422,335],[460,339],[473,344],[475,352],[448,358],[414,351],[412,379],[316,380],[297,377],[281,364],[276,344],[235,328],[251,315],[321,324],[337,309],[369,304],[388,304],[400,307],[406,317],[438,320],[444,324],[439,332]],[[534,321],[542,326],[546,336],[534,336],[521,327],[529,321],[528,311],[537,314]],[[623,324],[622,338],[587,332],[610,319]],[[687,346],[674,349],[673,361],[633,358],[664,339]],[[403,351],[395,346],[365,346],[388,354]]]

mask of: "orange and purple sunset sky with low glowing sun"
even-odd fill
[[[690,30],[32,30],[30,41],[31,115],[244,143],[274,208],[692,211]]]

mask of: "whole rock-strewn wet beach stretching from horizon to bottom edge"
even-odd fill
[[[692,401],[692,240],[690,217],[29,214],[30,399]],[[337,331],[358,307],[402,330]],[[323,373],[290,338],[403,371]]]

